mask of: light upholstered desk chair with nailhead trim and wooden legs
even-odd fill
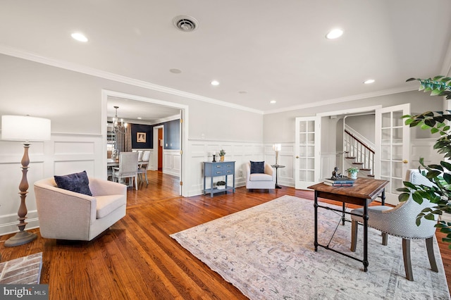
[[[426,177],[419,173],[419,170],[407,170],[406,181],[412,182],[414,185],[426,185],[431,187],[433,184]],[[435,206],[428,199],[423,199],[422,204],[417,204],[412,196],[395,208],[389,206],[370,206],[368,208],[368,226],[382,232],[382,244],[388,243],[387,235],[402,237],[402,254],[404,256],[404,270],[408,280],[414,280],[412,273],[412,263],[410,261],[410,240],[425,239],[426,250],[428,252],[429,263],[434,272],[438,272],[437,263],[433,251],[433,237],[435,235],[434,225],[437,223],[433,220],[421,219],[421,225],[416,226],[416,215],[424,208]],[[352,210],[352,213],[363,215],[363,208]],[[357,244],[357,227],[358,223],[363,223],[363,218],[357,215],[351,215],[352,218],[352,234],[351,234],[351,251],[355,251]]]

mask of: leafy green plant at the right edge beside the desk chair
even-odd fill
[[[433,78],[421,79],[410,78],[407,81],[418,80],[420,82],[419,91],[431,92],[431,96],[445,96],[451,99],[451,77],[435,76]],[[412,194],[412,198],[421,204],[423,199],[428,199],[436,204],[433,208],[425,208],[416,216],[416,224],[421,223],[422,218],[435,220],[435,215],[451,213],[451,127],[447,125],[451,120],[451,111],[426,111],[419,115],[404,115],[405,124],[409,127],[420,126],[421,129],[431,130],[431,133],[440,137],[435,141],[433,149],[439,154],[443,154],[443,161],[431,165],[424,164],[424,158],[420,158],[419,170],[434,186],[412,185],[411,182],[404,182],[404,187],[397,189],[402,192],[398,199],[406,201]],[[427,171],[421,170],[421,167]],[[451,243],[451,223],[439,220],[435,227],[440,228],[440,232],[447,234],[443,242]],[[451,244],[448,246],[451,249]]]

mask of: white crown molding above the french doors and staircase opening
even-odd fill
[[[353,96],[345,96],[345,97],[341,97],[341,98],[328,99],[328,100],[318,101],[318,102],[309,103],[309,104],[301,104],[298,106],[290,106],[290,107],[286,107],[286,108],[280,108],[280,109],[276,109],[273,111],[265,111],[264,114],[268,115],[271,113],[284,113],[286,111],[297,111],[299,109],[304,109],[304,108],[328,106],[331,104],[340,104],[340,103],[347,102],[347,101],[368,99],[368,98],[374,98],[374,97],[378,97],[378,96],[386,96],[386,95],[390,95],[390,94],[399,94],[399,93],[404,93],[404,92],[412,92],[412,91],[416,91],[416,90],[418,90],[417,87],[400,87],[400,88],[396,88],[396,89],[384,89],[382,91],[377,91],[377,92],[371,92],[371,93],[366,93],[366,94],[357,94],[357,95],[353,95]]]

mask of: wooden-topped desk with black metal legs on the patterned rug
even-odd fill
[[[330,185],[324,185],[322,182],[316,185],[312,185],[309,189],[314,189],[315,191],[315,251],[318,251],[318,246],[325,249],[332,250],[344,256],[353,258],[357,261],[362,261],[364,264],[365,272],[368,270],[368,204],[375,200],[379,194],[381,194],[382,204],[385,204],[385,186],[388,185],[386,180],[376,180],[368,178],[357,178],[354,181],[353,187],[330,187]],[[318,204],[318,198],[330,199],[335,201],[340,201],[343,203],[342,211],[330,208],[329,206],[321,206]],[[345,203],[357,204],[364,207],[364,259],[355,258],[348,254],[344,254],[335,249],[331,249],[328,246],[324,246],[318,243],[318,208],[326,208],[332,211],[339,211],[341,213],[345,212]],[[352,214],[352,213],[348,213]],[[343,218],[344,220],[344,218]]]

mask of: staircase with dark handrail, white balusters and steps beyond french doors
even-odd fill
[[[359,168],[357,177],[374,177],[374,145],[350,127],[345,127],[345,161],[347,168]]]

